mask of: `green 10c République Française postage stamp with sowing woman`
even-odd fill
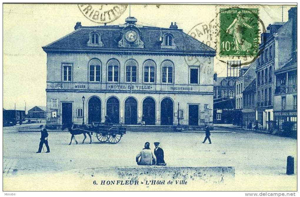
[[[220,56],[257,56],[258,8],[220,8]]]

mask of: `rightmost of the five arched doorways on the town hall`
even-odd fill
[[[161,125],[173,125],[174,104],[170,98],[161,101]]]

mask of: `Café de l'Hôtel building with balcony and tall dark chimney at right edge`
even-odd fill
[[[287,44],[292,46],[286,64],[274,71],[275,92],[274,92],[274,121],[276,129],[282,131],[283,122],[292,122],[292,135],[297,136],[297,8],[289,10],[288,31],[292,33]],[[281,28],[280,28],[281,29]],[[279,30],[280,30],[279,29]],[[278,31],[280,40],[283,31]]]

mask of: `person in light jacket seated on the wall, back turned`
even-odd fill
[[[140,161],[139,161],[140,158]],[[136,157],[137,165],[155,165],[156,164],[156,157],[153,154],[152,150],[150,149],[150,143],[145,143],[145,148],[137,154]]]

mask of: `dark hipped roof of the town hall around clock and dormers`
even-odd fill
[[[139,27],[139,26],[138,26]],[[121,40],[121,31],[123,26],[91,26],[91,27],[80,27],[76,31],[64,36],[57,41],[43,47],[44,50],[49,49],[61,49],[61,50],[74,50],[74,49],[93,49],[93,50],[104,50],[104,49],[122,49],[119,47],[119,41]],[[195,53],[210,53],[215,54],[215,50],[195,38],[187,35],[182,29],[170,29],[170,28],[159,28],[151,26],[139,27],[141,34],[141,40],[144,42],[144,48],[134,48],[137,51],[145,50],[159,50],[159,51],[175,51],[182,52],[190,51]],[[88,46],[89,34],[92,31],[98,31],[101,34],[101,41],[103,47],[90,47]],[[174,35],[174,42],[176,49],[161,49],[160,38],[165,33],[170,32]],[[187,48],[188,46],[188,48]],[[124,48],[123,48],[124,49]]]

